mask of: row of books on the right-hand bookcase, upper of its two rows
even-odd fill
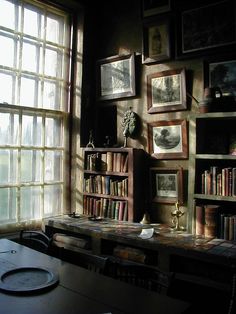
[[[204,170],[201,179],[202,194],[236,196],[236,168],[212,166]]]

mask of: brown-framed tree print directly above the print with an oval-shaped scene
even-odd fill
[[[185,69],[147,76],[148,113],[187,109]]]

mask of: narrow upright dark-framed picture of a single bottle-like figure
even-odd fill
[[[161,18],[143,24],[143,64],[170,59],[170,21]]]

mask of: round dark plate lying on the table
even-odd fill
[[[58,281],[58,274],[46,268],[19,267],[1,275],[0,289],[14,293],[32,292],[53,286]]]

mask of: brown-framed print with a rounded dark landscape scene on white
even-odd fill
[[[149,153],[157,159],[188,157],[186,120],[157,121],[148,124]]]

